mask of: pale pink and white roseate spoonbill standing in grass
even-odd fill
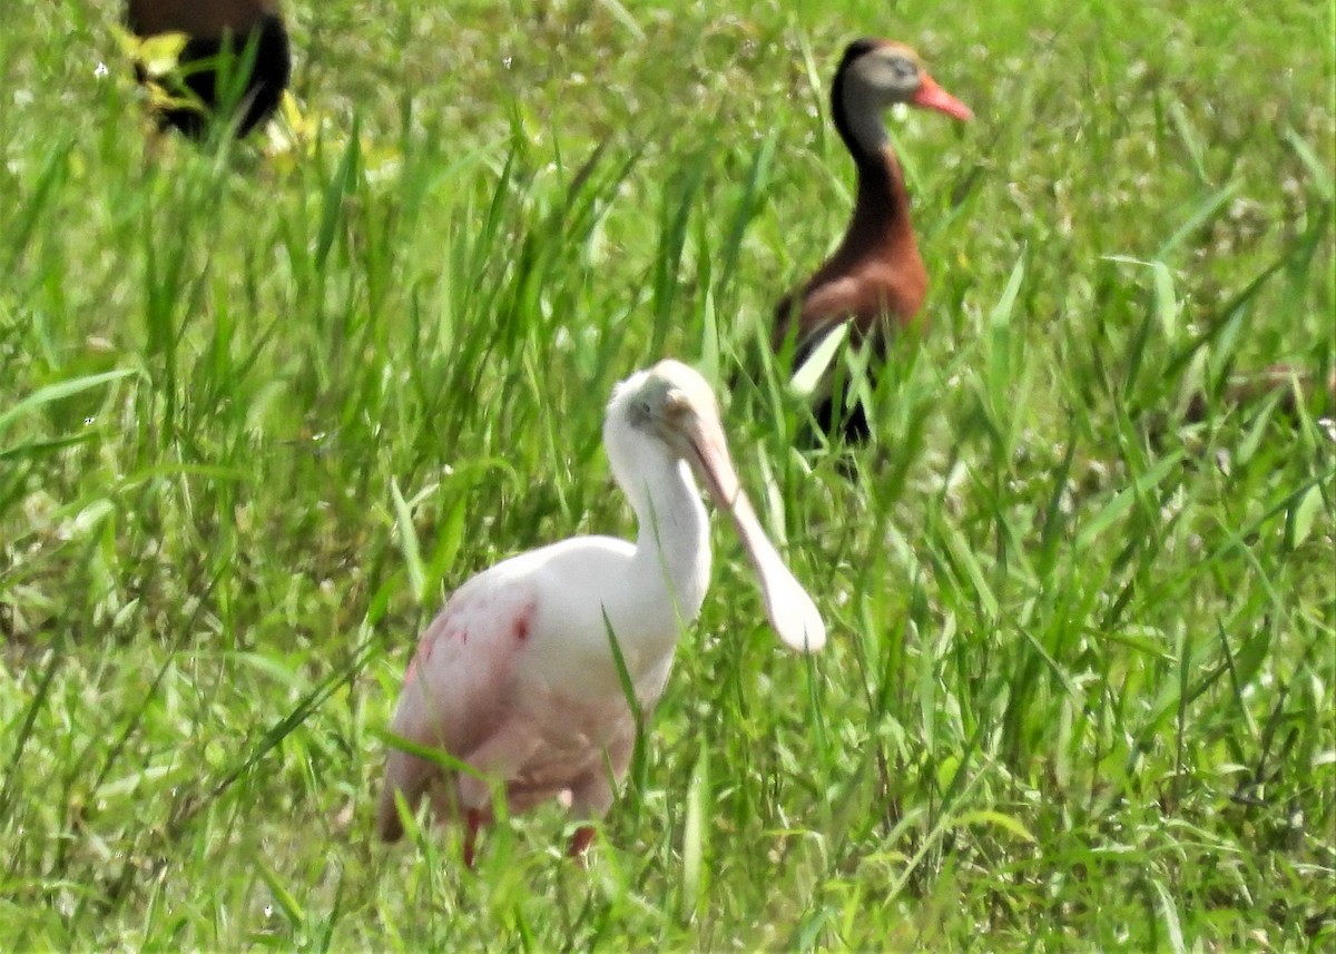
[[[826,643],[820,613],[743,493],[704,378],[676,361],[633,374],[613,391],[603,434],[636,512],[636,542],[564,540],[510,557],[450,596],[409,663],[393,731],[476,775],[391,750],[377,816],[386,840],[402,834],[397,796],[410,811],[426,796],[440,818],[464,818],[472,867],[477,831],[492,820],[489,782],[502,786],[512,812],[566,795],[580,819],[608,810],[636,726],[616,656],[648,713],[677,635],[705,599],[709,524],[693,472],[732,516],[779,637],[799,651]],[[578,828],[570,854],[592,838],[591,826]]]

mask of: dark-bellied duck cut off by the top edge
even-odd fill
[[[199,99],[210,111],[192,106],[168,107],[163,124],[175,126],[188,136],[200,136],[208,127],[210,114],[222,106],[215,63],[228,51],[235,63],[254,45],[254,61],[246,92],[236,104],[240,114],[236,135],[244,136],[273,115],[291,79],[293,61],[287,29],[278,11],[278,0],[128,0],[126,25],[138,36],[184,33],[178,73],[180,87],[168,90],[186,99]],[[139,79],[146,80],[143,68]],[[228,120],[232,116],[227,116]]]

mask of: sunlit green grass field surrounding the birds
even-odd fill
[[[119,4],[4,15],[0,949],[1336,945],[1336,445],[1216,400],[1332,366],[1331,4],[287,5],[290,147],[146,135]],[[758,342],[863,33],[977,122],[891,118],[929,327],[850,462]],[[663,355],[831,645],[720,529],[588,870],[556,806],[379,846],[418,631],[633,532]]]

